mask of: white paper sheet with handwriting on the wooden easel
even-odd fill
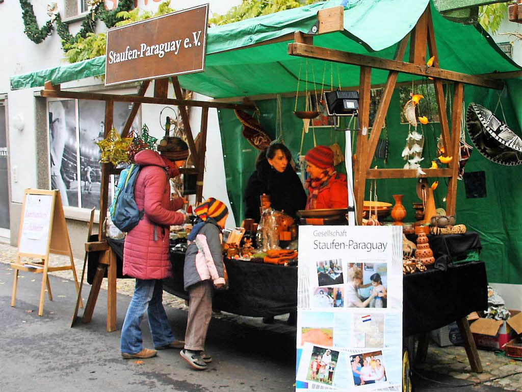
[[[27,194],[18,251],[45,255],[49,242],[53,195]]]

